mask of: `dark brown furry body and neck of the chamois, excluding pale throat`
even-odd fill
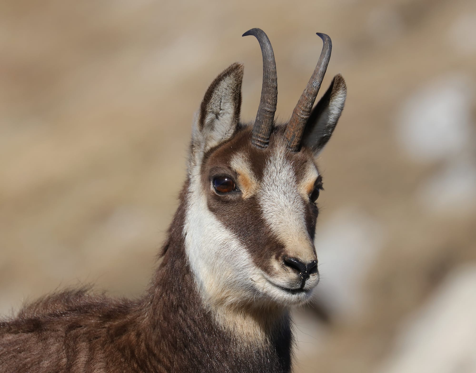
[[[288,372],[286,315],[269,330],[269,343],[244,346],[201,302],[184,251],[184,209],[182,199],[144,297],[78,290],[30,304],[0,322],[0,372]]]

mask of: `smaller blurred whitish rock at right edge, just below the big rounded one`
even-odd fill
[[[432,214],[463,214],[474,211],[476,159],[466,157],[448,162],[419,187],[417,200]]]

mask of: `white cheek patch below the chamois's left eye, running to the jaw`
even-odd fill
[[[204,302],[226,306],[255,296],[252,279],[261,277],[248,251],[208,210],[199,176],[190,179],[185,218],[185,251]]]

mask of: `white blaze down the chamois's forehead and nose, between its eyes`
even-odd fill
[[[296,175],[279,146],[269,158],[258,202],[272,232],[286,246],[287,255],[303,261],[314,260],[314,250],[306,229],[305,206],[298,191]]]

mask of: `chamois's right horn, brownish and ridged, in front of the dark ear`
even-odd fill
[[[327,65],[330,60],[332,41],[326,34],[317,32],[317,35],[323,41],[321,55],[317,61],[317,66],[311,79],[309,79],[304,92],[302,92],[299,101],[297,101],[297,105],[293,110],[291,119],[289,120],[288,128],[286,129],[286,138],[288,139],[288,149],[290,151],[299,150],[304,127],[306,126],[307,119],[311,114],[312,106],[314,105],[314,101],[316,101],[317,93],[319,92],[319,88],[321,88],[321,83],[326,74]]]

